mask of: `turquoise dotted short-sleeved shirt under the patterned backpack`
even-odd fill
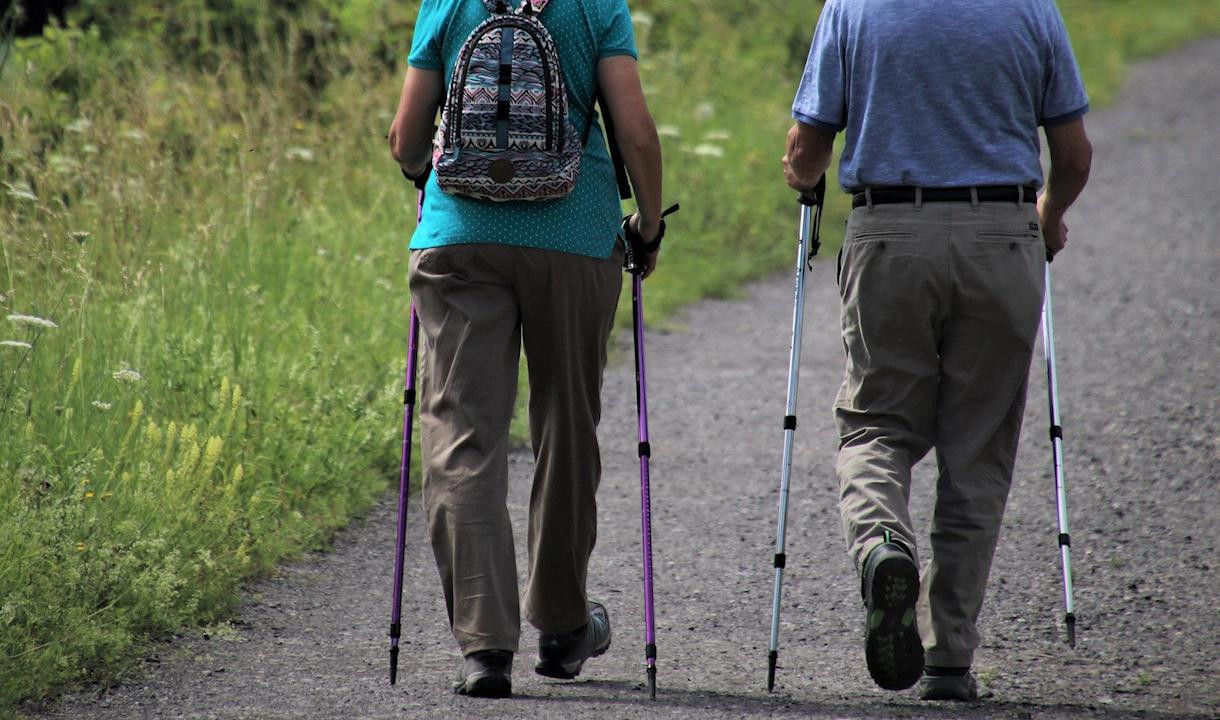
[[[462,44],[490,15],[482,0],[423,0],[407,62],[443,72],[445,87]],[[567,84],[569,118],[581,132],[593,112],[597,63],[603,57],[637,57],[627,0],[553,0],[538,16],[555,39]],[[443,193],[428,179],[423,220],[411,249],[497,243],[609,257],[622,206],[614,166],[594,122],[581,157],[576,188],[559,200],[493,203]]]

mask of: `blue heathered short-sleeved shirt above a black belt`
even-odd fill
[[[792,106],[848,192],[1041,187],[1038,126],[1087,111],[1053,0],[827,0]]]

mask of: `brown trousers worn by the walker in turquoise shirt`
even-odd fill
[[[422,331],[423,506],[462,654],[517,650],[517,570],[506,506],[517,362],[529,366],[526,617],[544,632],[588,621],[597,538],[601,372],[622,283],[609,260],[493,244],[411,253]]]

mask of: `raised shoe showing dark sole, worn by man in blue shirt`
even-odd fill
[[[924,646],[915,626],[919,569],[906,550],[887,542],[869,553],[861,581],[869,675],[886,689],[906,689],[924,671]]]

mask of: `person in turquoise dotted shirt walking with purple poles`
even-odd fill
[[[433,176],[410,244],[423,337],[425,513],[464,655],[455,691],[478,697],[511,694],[521,635],[506,493],[522,347],[536,459],[525,593],[526,619],[539,631],[534,670],[575,677],[610,644],[609,615],[586,596],[601,472],[601,373],[622,283],[619,193],[593,112],[599,88],[636,190],[632,228],[651,243],[661,221],[660,142],[626,0],[512,0],[512,10],[526,1],[554,38],[571,124],[589,128],[576,187],[562,199],[493,203],[440,192]],[[409,176],[426,172],[459,51],[495,9],[423,0],[389,131],[390,151]],[[655,266],[651,253],[647,272]]]

